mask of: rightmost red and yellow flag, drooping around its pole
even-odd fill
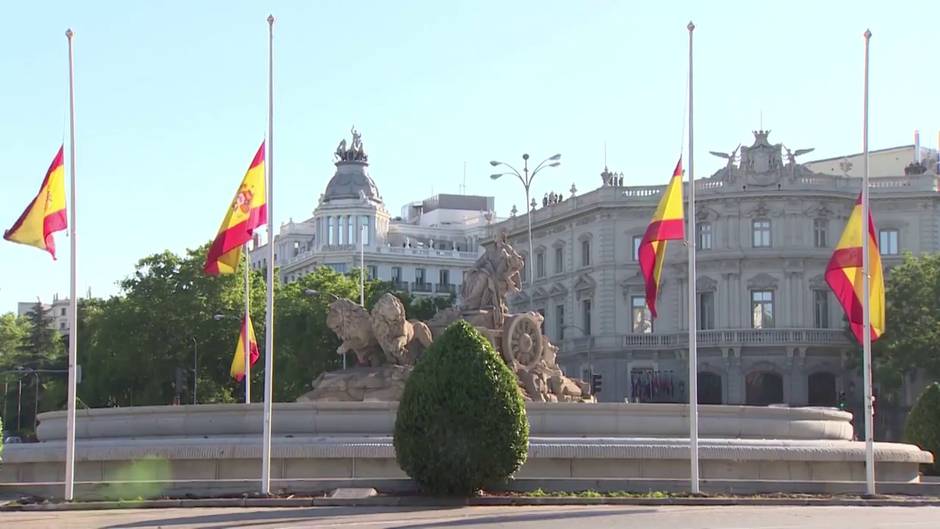
[[[875,223],[868,213],[868,264],[871,278],[868,282],[868,310],[871,317],[871,340],[877,340],[885,332],[885,278],[881,269],[881,252],[875,236]],[[832,252],[826,267],[826,283],[845,310],[855,339],[862,343],[863,333],[863,288],[862,273],[862,197],[859,195],[855,207]]]

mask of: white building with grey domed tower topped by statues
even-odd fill
[[[369,175],[369,157],[353,130],[334,153],[336,172],[313,217],[282,224],[275,236],[275,266],[292,282],[320,266],[394,283],[416,296],[456,295],[463,274],[491,234],[493,197],[436,195],[392,216]],[[252,266],[267,266],[266,245],[251,250]]]

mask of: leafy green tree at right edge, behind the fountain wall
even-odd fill
[[[887,329],[873,357],[882,396],[889,396],[915,369],[940,379],[940,254],[905,254],[885,287]]]

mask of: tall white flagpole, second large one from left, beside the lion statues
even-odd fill
[[[271,399],[274,384],[274,16],[268,15],[268,292],[264,315],[264,427],[261,440],[261,493],[271,493]]]

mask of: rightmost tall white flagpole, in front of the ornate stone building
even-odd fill
[[[863,112],[862,149],[865,152],[865,174],[862,177],[862,357],[865,383],[865,489],[875,494],[875,435],[871,391],[871,259],[868,258],[868,43],[871,31],[865,30],[865,109]]]

